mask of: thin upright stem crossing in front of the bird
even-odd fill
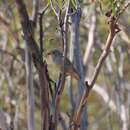
[[[55,112],[54,112],[54,124],[55,124],[55,129],[57,126],[57,121],[58,121],[58,115],[59,115],[59,103],[60,103],[60,98],[62,95],[62,92],[64,90],[64,84],[65,84],[65,59],[67,56],[67,21],[68,21],[68,11],[69,11],[69,4],[70,4],[70,0],[68,0],[68,5],[67,5],[67,9],[66,9],[66,13],[65,13],[65,17],[64,17],[64,24],[63,24],[63,20],[61,18],[61,12],[58,15],[58,22],[59,22],[59,26],[60,26],[60,33],[61,33],[61,37],[62,37],[62,43],[63,43],[63,69],[61,72],[61,75],[59,77],[59,84],[57,85],[57,91],[56,91],[56,95],[55,95]]]

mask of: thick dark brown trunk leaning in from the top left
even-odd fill
[[[35,67],[39,75],[40,84],[40,96],[41,96],[41,129],[49,129],[49,81],[47,79],[47,65],[43,62],[40,49],[33,37],[33,29],[31,28],[31,23],[28,17],[25,3],[23,0],[15,0],[18,12],[20,14],[21,25],[24,33],[24,38],[26,40],[26,45],[29,53],[31,54]]]

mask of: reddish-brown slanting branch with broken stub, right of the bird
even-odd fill
[[[102,64],[104,63],[106,57],[108,56],[108,54],[110,52],[110,47],[111,47],[112,41],[113,41],[115,35],[117,34],[117,32],[119,32],[119,27],[118,27],[117,23],[115,23],[115,18],[113,16],[110,16],[109,17],[109,34],[107,37],[105,48],[104,48],[103,53],[101,54],[101,56],[99,58],[97,65],[96,65],[96,68],[95,68],[95,71],[94,71],[94,74],[93,74],[91,81],[90,82],[86,81],[86,91],[84,91],[83,96],[82,96],[81,101],[80,101],[80,104],[78,106],[78,109],[75,112],[70,130],[77,130],[79,127],[81,112],[87,103],[87,97],[89,95],[90,90],[92,89],[93,85],[96,82],[96,79],[98,77],[98,74],[100,72]]]

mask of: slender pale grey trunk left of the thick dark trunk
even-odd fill
[[[33,66],[32,57],[26,44],[26,91],[27,91],[27,120],[28,130],[35,130],[34,121],[34,88],[33,88]]]

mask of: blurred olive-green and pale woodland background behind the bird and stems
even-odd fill
[[[68,1],[24,0],[31,20],[28,28],[31,28],[31,34],[33,34],[39,48],[41,48],[40,33],[42,33],[42,57],[43,61],[47,63],[47,74],[53,80],[53,82],[48,81],[53,93],[56,91],[56,83],[60,80],[60,72],[47,57],[47,52],[59,49],[66,54],[67,51],[67,57],[73,61],[82,78],[81,81],[76,81],[70,77],[65,79],[64,91],[59,103],[58,111],[60,114],[58,113],[58,123],[55,122],[57,127],[54,126],[54,129],[67,130],[71,127],[74,112],[86,87],[82,85],[82,81],[91,81],[95,66],[99,62],[99,57],[108,38],[109,23],[111,22],[109,20],[111,20],[111,16],[117,18],[119,15],[117,22],[120,28],[119,33],[113,36],[109,55],[104,60],[96,83],[89,93],[87,105],[83,110],[84,114],[82,114],[83,118],[81,118],[80,125],[76,129],[80,127],[81,130],[129,130],[130,8],[126,5],[129,6],[127,3],[130,2],[128,0],[70,0],[70,12],[68,13],[66,11]],[[28,51],[25,54],[29,42],[26,38],[28,36],[23,31],[25,30],[23,29],[24,25],[21,26],[22,16],[18,11],[18,3],[20,3],[19,0],[0,0],[0,127],[2,130],[6,130],[7,127],[14,130],[47,130],[41,125],[43,118],[41,115],[41,98],[46,94],[40,87],[38,64],[35,64],[34,57],[32,61],[29,61],[32,59],[30,58],[32,55],[29,57]],[[61,15],[58,14],[59,12],[57,13],[57,10],[60,10]],[[71,10],[73,11],[71,12]],[[80,15],[77,13],[79,15],[78,26],[78,22],[73,23],[73,15],[79,10],[82,13],[80,12]],[[61,21],[64,20],[66,12],[68,13],[67,30],[64,31],[67,36],[64,36],[65,34],[62,35]],[[40,31],[41,24],[39,24],[41,15],[43,15],[42,31]],[[73,26],[77,28],[78,34],[74,32]],[[73,37],[74,34],[77,34],[76,40]],[[65,37],[67,37],[67,41],[62,39]],[[66,51],[65,44],[67,46]],[[33,62],[32,69],[29,71],[27,66],[31,62]],[[28,73],[32,75],[30,83],[33,87],[31,92],[28,89]],[[43,81],[44,85],[46,83]],[[81,86],[84,86],[83,89],[80,89]],[[47,91],[49,93],[49,116],[48,118],[44,116],[44,118],[52,121],[55,107],[52,103],[52,95],[49,90]],[[28,114],[29,111],[33,112],[34,117]],[[7,124],[2,124],[5,121],[4,116],[7,118]],[[32,121],[29,121],[30,117]],[[34,123],[32,128],[29,126],[29,122],[30,124]]]

